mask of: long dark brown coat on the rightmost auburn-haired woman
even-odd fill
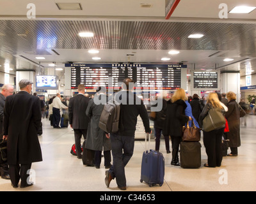
[[[240,108],[236,103],[236,100],[230,100],[228,102],[228,112],[226,112],[225,117],[228,120],[227,139],[229,140],[229,147],[240,147]]]

